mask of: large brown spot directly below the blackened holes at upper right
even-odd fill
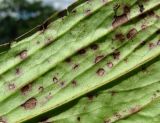
[[[126,14],[120,15],[120,16],[116,16],[114,18],[114,21],[112,22],[112,26],[113,28],[118,27],[119,25],[125,23],[128,21],[128,17]]]

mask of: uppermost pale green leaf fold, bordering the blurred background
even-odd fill
[[[113,0],[109,0],[107,3],[112,3],[112,1]],[[90,3],[82,2],[79,6],[73,8],[76,13],[72,11],[69,16],[62,16],[62,18],[49,24],[48,21],[52,20],[51,17],[51,19],[49,19],[46,23],[38,27],[40,28],[40,31],[37,31],[30,37],[27,37],[21,41],[18,40],[18,43],[13,42],[11,44],[10,51],[8,51],[7,54],[0,56],[0,74],[23,62],[24,58],[18,57],[18,54],[23,54],[23,51],[27,51],[26,57],[35,54],[37,51],[48,45],[48,43],[55,42],[58,38],[62,37],[65,33],[75,27],[76,24],[87,18],[89,16],[89,14],[86,13],[88,9],[90,10],[90,14],[92,14],[105,5],[106,2],[99,0],[93,0]],[[8,59],[7,62],[5,59]]]

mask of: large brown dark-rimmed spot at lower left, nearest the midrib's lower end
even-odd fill
[[[37,105],[37,99],[30,98],[24,104],[22,104],[22,107],[24,107],[26,110],[31,110],[31,109],[34,109],[36,105]]]

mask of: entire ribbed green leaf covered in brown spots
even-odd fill
[[[0,52],[1,123],[160,122],[160,0],[80,0]]]

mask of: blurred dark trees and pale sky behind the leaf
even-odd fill
[[[0,0],[0,44],[41,24],[75,0]]]

